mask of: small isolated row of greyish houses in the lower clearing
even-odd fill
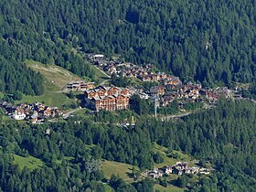
[[[176,162],[176,165],[167,165],[146,172],[146,176],[152,176],[153,178],[159,178],[164,175],[169,176],[170,174],[178,176],[182,176],[183,174],[209,175],[210,172],[208,169],[199,166],[188,166],[187,162]]]

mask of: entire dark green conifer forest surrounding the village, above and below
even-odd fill
[[[93,79],[84,54],[101,53],[138,65],[151,63],[203,87],[251,83],[241,93],[255,99],[255,26],[255,0],[2,0],[0,93],[44,93],[43,75],[29,69],[26,59]],[[125,112],[31,124],[5,121],[0,109],[0,192],[153,192],[155,180],[149,177],[132,183],[120,176],[106,179],[101,169],[89,171],[87,164],[114,161],[144,172],[161,160],[155,144],[212,165],[209,176],[179,176],[178,187],[256,191],[255,101],[221,99],[212,109],[174,121],[152,118],[153,104],[139,97],[130,104],[125,112],[129,118],[136,115],[136,124],[125,129],[115,122]],[[160,113],[178,111],[174,101]],[[32,159],[27,165],[35,167],[18,165],[16,158],[22,157]]]

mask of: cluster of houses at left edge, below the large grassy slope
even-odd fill
[[[5,109],[11,118],[15,120],[27,120],[31,123],[42,123],[46,118],[63,114],[58,107],[49,107],[40,102],[14,105],[10,102],[0,101],[0,107]]]

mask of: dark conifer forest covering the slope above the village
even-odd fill
[[[0,5],[0,54],[14,58],[13,65],[35,59],[90,76],[90,66],[72,52],[75,48],[153,63],[209,87],[255,81],[254,0],[3,0]],[[28,82],[29,77],[30,72]],[[41,92],[31,89],[25,93]]]

